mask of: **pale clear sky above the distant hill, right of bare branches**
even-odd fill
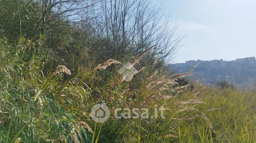
[[[256,56],[256,0],[153,0],[186,36],[173,63]]]

